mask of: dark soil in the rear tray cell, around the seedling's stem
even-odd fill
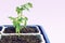
[[[8,27],[3,31],[4,33],[15,33],[15,28],[14,27]],[[21,33],[37,33],[39,32],[36,27],[26,27],[21,29]]]

